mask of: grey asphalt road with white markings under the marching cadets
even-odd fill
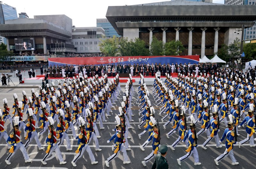
[[[137,87],[135,87],[136,89]],[[151,86],[148,86],[148,89],[151,88]],[[124,89],[122,87],[122,89]],[[24,89],[27,93],[27,96],[31,96],[31,90],[30,89]],[[35,91],[38,92],[38,89],[35,88]],[[151,92],[151,91],[150,91]],[[8,105],[10,107],[12,107],[13,104],[13,93],[17,93],[18,95],[18,99],[19,101],[22,100],[22,89],[0,89],[0,95],[1,95],[1,100],[0,100],[0,107],[1,109],[3,109],[3,100],[4,98],[7,98],[8,100]],[[123,94],[123,92],[122,92]],[[122,153],[119,154],[119,156],[114,159],[112,162],[110,162],[110,167],[109,168],[151,168],[152,164],[154,162],[154,159],[152,159],[150,162],[147,163],[147,166],[144,167],[141,163],[141,161],[143,161],[143,158],[147,157],[148,154],[152,151],[152,146],[150,145],[150,143],[148,144],[148,146],[145,148],[145,151],[141,151],[140,149],[140,145],[142,145],[146,139],[148,138],[148,134],[145,134],[144,136],[141,136],[141,140],[139,140],[138,134],[141,133],[143,131],[143,128],[138,129],[137,125],[139,124],[139,116],[138,116],[138,106],[135,104],[135,101],[137,100],[137,92],[134,92],[134,97],[133,97],[133,101],[132,101],[132,112],[134,114],[134,116],[132,117],[132,119],[134,120],[134,122],[131,123],[132,127],[134,129],[129,129],[129,136],[131,136],[131,139],[128,139],[128,142],[131,146],[131,151],[127,151],[127,154],[130,158],[131,163],[130,164],[123,164],[123,155]],[[78,147],[77,145],[77,141],[73,141],[73,137],[72,137],[72,133],[71,131],[68,132],[69,134],[69,138],[71,139],[71,145],[73,150],[72,151],[66,151],[66,147],[65,145],[61,145],[60,146],[60,151],[62,152],[63,155],[63,159],[65,161],[67,161],[67,164],[65,165],[60,165],[59,161],[56,160],[56,158],[54,158],[54,156],[51,156],[46,162],[48,163],[47,165],[43,165],[40,161],[41,159],[44,157],[45,155],[45,151],[43,150],[38,150],[36,142],[33,140],[32,143],[28,146],[27,148],[27,152],[29,154],[29,158],[33,159],[32,163],[25,163],[25,160],[22,156],[21,151],[17,151],[17,153],[14,155],[14,157],[10,160],[10,162],[12,163],[11,165],[7,165],[5,163],[5,159],[7,158],[9,151],[7,150],[7,145],[6,142],[4,140],[4,138],[2,140],[0,140],[0,165],[6,169],[8,168],[29,168],[29,167],[33,167],[33,168],[47,168],[47,167],[61,167],[61,168],[108,168],[105,165],[105,160],[111,156],[113,154],[113,151],[111,151],[111,145],[113,144],[113,141],[110,143],[107,143],[107,140],[109,138],[111,138],[111,135],[114,134],[114,132],[112,131],[112,129],[115,128],[116,123],[115,121],[115,115],[118,113],[118,108],[117,106],[121,105],[121,96],[119,96],[118,101],[116,102],[117,105],[116,106],[116,110],[113,110],[113,113],[110,117],[106,117],[106,120],[108,122],[103,123],[103,126],[105,127],[105,129],[99,129],[99,125],[98,129],[101,135],[101,138],[98,138],[99,140],[99,145],[100,148],[102,149],[102,151],[95,151],[95,144],[94,142],[90,143],[90,147],[92,149],[92,153],[94,154],[96,161],[99,161],[98,164],[95,165],[91,165],[91,161],[88,157],[88,153],[84,152],[84,156],[83,158],[80,158],[76,164],[76,167],[73,167],[73,165],[71,164],[72,159],[75,156],[75,151]],[[153,106],[155,106],[155,101],[152,98],[152,95],[150,94],[149,99],[151,100],[151,104]],[[158,119],[158,121],[161,121],[160,115],[159,113],[159,108],[155,109],[156,111],[156,119]],[[11,110],[12,112],[12,110]],[[162,115],[163,117],[163,115]],[[169,119],[168,119],[169,120]],[[40,125],[40,124],[39,124]],[[55,123],[56,125],[56,123]],[[160,126],[162,126],[163,123],[160,123]],[[200,128],[200,124],[197,124],[197,129]],[[12,131],[12,127],[10,126],[10,122],[7,120],[6,124],[5,124],[5,129],[8,133],[8,135],[11,133]],[[168,133],[171,130],[171,126],[167,126],[166,130],[163,129],[162,127],[161,129],[161,144],[166,144],[166,145],[171,145],[173,142],[176,141],[176,139],[178,138],[178,132],[174,133],[172,136],[170,136],[170,139],[167,139],[165,134]],[[220,126],[220,132],[219,132],[219,137],[222,136],[223,131],[225,129],[225,125],[224,123],[221,122],[221,126]],[[37,131],[41,131],[41,129],[37,129]],[[243,140],[247,134],[245,132],[245,128],[240,128],[239,129],[239,134],[240,136],[238,137],[238,141]],[[42,144],[42,146],[46,146],[45,143],[45,138],[47,136],[47,133],[45,132],[43,134],[43,136],[39,137],[39,140]],[[225,151],[225,145],[224,145],[224,141],[222,144],[222,148],[217,149],[215,146],[215,142],[211,141],[208,145],[207,145],[207,150],[203,150],[200,145],[202,145],[202,143],[204,143],[204,141],[207,139],[206,137],[206,133],[203,133],[201,136],[199,136],[198,138],[198,147],[197,147],[197,151],[199,154],[199,161],[202,163],[202,165],[194,165],[194,158],[190,157],[189,159],[182,161],[181,162],[181,166],[178,165],[177,163],[177,158],[180,158],[181,156],[186,154],[186,146],[185,143],[179,143],[178,146],[175,148],[175,151],[172,151],[170,148],[168,149],[168,154],[166,156],[168,163],[169,163],[169,168],[232,168],[232,169],[236,169],[236,168],[255,168],[256,165],[256,160],[255,160],[255,153],[256,153],[256,147],[249,147],[249,142],[247,142],[247,144],[244,144],[241,146],[241,149],[238,148],[238,146],[235,146],[234,148],[234,154],[235,154],[235,158],[237,160],[237,162],[239,162],[239,165],[233,166],[231,165],[231,160],[229,157],[223,159],[220,163],[219,166],[215,165],[214,163],[214,159],[217,158],[220,154],[222,154]],[[212,139],[214,140],[214,139]],[[26,143],[25,138],[23,137],[22,134],[22,139],[21,141],[23,143]],[[64,144],[65,141],[64,141]],[[45,148],[45,150],[46,150]]]

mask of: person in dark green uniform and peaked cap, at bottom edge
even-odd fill
[[[158,149],[158,151],[161,154],[156,155],[156,160],[152,166],[152,169],[167,169],[169,168],[168,162],[166,160],[166,154],[167,154],[168,147],[166,145],[161,145],[161,147]]]

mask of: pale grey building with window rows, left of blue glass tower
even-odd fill
[[[100,41],[105,36],[102,27],[72,27],[72,45],[76,53],[100,53]]]

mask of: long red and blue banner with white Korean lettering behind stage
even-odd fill
[[[198,63],[199,55],[184,55],[184,56],[106,56],[106,57],[57,57],[48,58],[50,65],[105,65],[112,63],[123,63],[123,64],[136,64],[136,63],[161,63],[161,64],[175,64],[175,63]]]

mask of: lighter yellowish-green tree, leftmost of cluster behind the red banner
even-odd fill
[[[118,52],[118,41],[119,39],[116,36],[113,38],[101,40],[100,51],[106,56],[116,56]]]

